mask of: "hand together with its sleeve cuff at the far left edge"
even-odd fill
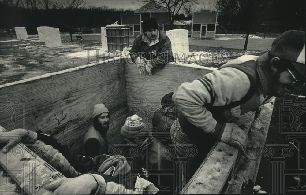
[[[28,131],[26,129],[14,129],[9,132],[0,133],[0,145],[6,144],[6,146],[4,146],[2,149],[2,152],[4,153],[20,142],[34,144],[36,141],[37,133]]]

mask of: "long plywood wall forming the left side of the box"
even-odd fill
[[[120,58],[0,85],[0,93],[5,112],[0,123],[9,131],[41,130],[78,153],[93,106],[104,103],[111,115],[110,144],[121,141],[116,135],[127,117],[127,101]]]

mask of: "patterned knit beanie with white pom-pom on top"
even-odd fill
[[[149,132],[145,131],[145,125],[142,122],[141,117],[134,114],[126,118],[124,125],[121,127],[121,135],[126,138],[134,139],[135,136],[146,136]]]

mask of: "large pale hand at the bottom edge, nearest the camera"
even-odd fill
[[[46,185],[46,190],[54,191],[52,194],[90,194],[96,191],[98,183],[90,174],[80,175],[75,178],[65,178],[61,181]]]

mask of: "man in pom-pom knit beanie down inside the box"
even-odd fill
[[[126,119],[121,127],[120,134],[129,146],[122,148],[126,152],[123,156],[129,159],[132,158],[133,169],[142,170],[144,177],[159,188],[160,193],[173,194],[174,175],[173,173],[165,173],[173,170],[173,161],[169,157],[170,153],[166,155],[165,146],[156,138],[153,138],[151,130],[148,129],[142,118],[136,114]],[[132,153],[135,148],[141,148],[139,154]],[[154,172],[154,174],[150,174],[151,172]],[[171,192],[162,186],[171,188]]]

